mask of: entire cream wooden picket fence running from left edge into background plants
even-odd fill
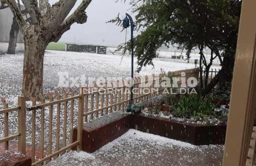
[[[198,69],[174,71],[171,72],[171,75],[173,77],[180,77],[182,72],[186,73],[186,82],[189,77],[195,77],[198,79]],[[147,101],[150,98],[154,98],[161,94],[164,88],[157,86],[157,83],[161,83],[162,78],[165,75],[166,74],[162,73],[158,76],[149,75],[145,77],[135,77],[133,82],[133,103],[137,104],[143,101]],[[107,114],[111,114],[115,111],[124,112],[130,101],[131,93],[130,86],[128,85],[131,84],[131,81],[132,80],[124,79],[106,82],[100,87],[96,85],[93,87],[80,87],[78,95],[74,95],[74,91],[71,89],[69,92],[66,92],[63,89],[62,94],[60,94],[58,90],[55,90],[56,99],[53,97],[53,94],[48,92],[48,101],[43,95],[39,95],[40,101],[37,102],[36,99],[30,98],[32,106],[26,106],[25,97],[18,97],[18,107],[8,108],[8,103],[3,98],[2,102],[5,108],[0,110],[0,114],[4,114],[5,131],[4,138],[0,138],[0,143],[4,143],[5,149],[8,150],[9,141],[18,138],[18,150],[19,152],[26,154],[26,126],[28,125],[26,124],[26,114],[28,112],[32,112],[32,129],[31,133],[29,133],[32,135],[32,165],[42,165],[48,163],[52,159],[55,159],[59,155],[69,151],[72,147],[75,146],[76,149],[80,151],[82,147],[83,123],[87,123],[91,120]],[[75,103],[77,103],[78,107],[75,106]],[[47,137],[45,135],[46,110],[48,111],[47,115],[49,117]],[[15,111],[18,112],[18,133],[9,135],[8,114]],[[54,113],[56,113],[56,124],[53,123]],[[41,115],[40,131],[36,129],[37,115]],[[61,122],[61,118],[63,118],[63,122]],[[72,142],[75,118],[77,118],[77,141]],[[67,127],[67,124],[69,127]],[[53,129],[54,125],[56,125],[56,130]],[[62,130],[63,133],[60,133],[60,130]],[[67,138],[68,133],[69,138]],[[36,150],[38,147],[36,139],[38,134],[40,134],[40,156],[37,159]],[[67,142],[66,140],[68,139],[69,141]]]

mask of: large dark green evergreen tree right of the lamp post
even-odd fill
[[[162,45],[186,50],[188,59],[191,51],[198,49],[200,68],[204,66],[206,70],[206,79],[201,80],[202,93],[209,93],[217,83],[224,86],[232,78],[241,3],[240,0],[130,0],[136,14],[135,29],[139,32],[134,39],[137,71],[153,65],[152,60]],[[109,22],[122,25],[119,15]],[[118,48],[129,50],[130,44]],[[211,51],[208,62],[204,49]],[[219,59],[221,70],[208,83],[215,58]]]

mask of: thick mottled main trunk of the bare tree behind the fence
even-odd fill
[[[22,94],[29,98],[38,98],[43,94],[44,54],[48,41],[43,38],[34,26],[24,35],[25,53],[23,64],[23,89]]]

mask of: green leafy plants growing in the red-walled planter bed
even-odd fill
[[[214,102],[214,98],[210,95],[172,95],[167,94],[163,99],[149,101],[143,104],[142,112],[151,115],[159,115],[163,105],[170,107],[170,113],[164,115],[175,118],[186,118],[195,121],[207,121],[208,119],[214,122],[227,122],[227,114],[219,112],[215,113],[219,103]]]

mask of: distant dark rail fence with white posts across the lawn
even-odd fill
[[[74,52],[91,52],[98,54],[106,54],[106,46],[98,45],[78,45],[78,44],[65,44],[65,51],[74,51]]]

